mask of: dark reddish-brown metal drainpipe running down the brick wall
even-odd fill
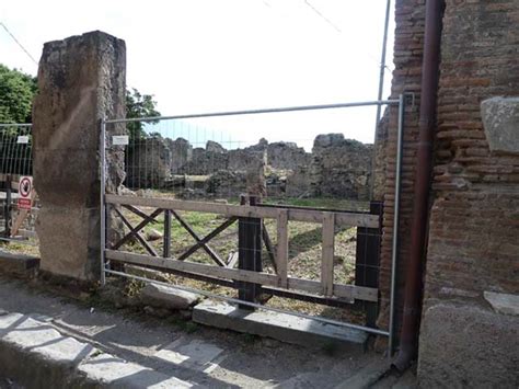
[[[400,351],[393,362],[393,366],[401,371],[410,366],[418,348],[423,261],[427,243],[426,231],[429,210],[430,173],[432,168],[431,151],[436,124],[442,12],[443,0],[426,1],[419,106],[419,141],[411,227],[411,255],[405,278]]]

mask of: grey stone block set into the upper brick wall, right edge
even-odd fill
[[[519,98],[492,98],[481,103],[491,151],[519,155]]]

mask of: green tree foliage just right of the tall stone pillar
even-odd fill
[[[126,91],[126,117],[152,117],[160,116],[160,112],[155,110],[157,102],[152,94],[141,94],[137,89]],[[145,123],[157,123],[157,121],[149,122],[129,122],[126,126],[130,139],[139,139],[145,137]]]

